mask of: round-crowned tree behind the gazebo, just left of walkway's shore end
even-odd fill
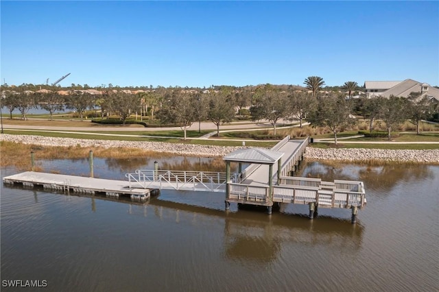
[[[254,94],[258,102],[250,107],[253,121],[268,119],[276,135],[277,121],[287,118],[290,113],[287,93],[280,93],[274,86],[266,84],[259,86]]]

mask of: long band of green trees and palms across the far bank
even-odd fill
[[[18,109],[21,119],[31,108],[39,106],[47,110],[50,119],[54,112],[67,108],[75,111],[80,119],[84,112],[91,110],[92,117],[102,120],[117,116],[121,123],[135,115],[147,123],[159,121],[161,125],[178,125],[185,132],[195,122],[211,121],[219,127],[233,119],[267,120],[273,126],[280,120],[307,121],[313,126],[328,127],[334,134],[344,131],[356,123],[355,115],[360,114],[370,120],[370,131],[374,121],[383,121],[388,130],[406,119],[415,125],[423,119],[436,119],[438,104],[431,100],[418,99],[416,95],[406,99],[400,97],[365,96],[351,98],[357,90],[357,82],[345,82],[341,87],[345,92],[323,91],[321,77],[310,76],[305,79],[305,88],[299,86],[211,86],[211,88],[157,87],[147,90],[127,90],[105,88],[102,90],[75,89],[59,90],[47,87],[30,90],[29,86],[1,86],[1,105],[12,111]],[[73,84],[72,84],[73,85]],[[34,88],[36,89],[36,88]],[[419,132],[419,130],[418,130]]]

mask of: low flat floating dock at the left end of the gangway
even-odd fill
[[[152,189],[134,188],[126,181],[104,180],[102,178],[84,178],[75,175],[40,173],[26,171],[3,178],[5,184],[43,188],[51,191],[66,191],[89,195],[106,195],[117,198],[130,197],[132,200],[145,201],[150,198]]]

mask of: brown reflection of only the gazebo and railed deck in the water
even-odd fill
[[[226,217],[226,256],[270,262],[285,245],[294,244],[356,253],[361,249],[363,230],[349,220],[288,220],[285,215],[273,216],[270,221]]]

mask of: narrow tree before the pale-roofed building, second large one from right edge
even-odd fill
[[[388,99],[378,97],[379,118],[385,123],[390,141],[391,131],[407,118],[407,99],[391,95]]]

